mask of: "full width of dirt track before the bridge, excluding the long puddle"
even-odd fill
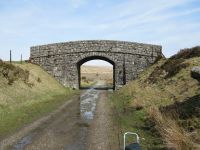
[[[88,91],[83,93],[86,92]],[[94,119],[88,121],[81,118],[80,100],[75,98],[61,112],[29,132],[8,149],[119,150],[107,100],[108,91],[92,92],[98,95],[92,95],[97,97]]]

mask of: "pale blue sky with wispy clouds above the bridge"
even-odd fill
[[[167,57],[200,45],[200,0],[0,0],[0,58],[76,40],[159,44]]]

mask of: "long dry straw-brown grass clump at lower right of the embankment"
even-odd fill
[[[172,150],[193,150],[195,143],[177,122],[162,114],[158,107],[152,106],[148,110],[150,118],[155,122],[156,129],[164,139],[166,145]]]

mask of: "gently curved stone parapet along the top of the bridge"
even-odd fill
[[[159,45],[124,41],[74,41],[33,46],[31,47],[31,58],[66,53],[84,53],[89,51],[129,53],[157,57],[157,55],[162,53],[162,47]]]

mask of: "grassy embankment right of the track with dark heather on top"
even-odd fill
[[[115,92],[120,137],[137,132],[143,149],[199,149],[200,84],[191,78],[193,66],[200,66],[200,47],[160,60]]]

